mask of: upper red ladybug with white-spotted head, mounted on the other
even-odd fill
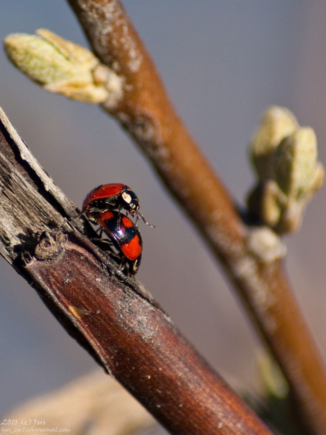
[[[146,225],[153,227],[138,211],[139,207],[139,199],[130,187],[122,183],[110,183],[95,187],[87,195],[83,203],[83,213],[86,213],[90,221],[97,222],[99,212],[125,209],[127,215],[136,216],[136,226],[141,218]]]

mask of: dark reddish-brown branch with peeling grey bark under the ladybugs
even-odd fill
[[[161,424],[171,433],[270,433],[140,285],[72,226],[87,230],[2,110],[0,187],[1,254]]]

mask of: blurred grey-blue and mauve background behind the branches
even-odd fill
[[[185,0],[124,5],[179,114],[235,200],[254,177],[248,144],[271,104],[312,126],[326,164],[326,3]],[[1,0],[0,36],[47,28],[86,40],[67,3]],[[0,51],[0,105],[36,158],[80,207],[101,183],[139,196],[144,254],[139,278],[209,363],[237,389],[257,388],[256,333],[209,251],[139,150],[97,106],[46,93]],[[300,233],[286,238],[290,281],[325,356],[325,188]],[[0,258],[0,415],[96,367]]]

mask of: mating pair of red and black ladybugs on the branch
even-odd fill
[[[85,198],[83,213],[101,227],[119,252],[127,276],[137,274],[142,258],[143,241],[138,228],[138,220],[150,225],[139,212],[140,202],[130,187],[121,183],[101,184]],[[126,214],[121,210],[126,210]],[[128,214],[136,216],[133,223]]]

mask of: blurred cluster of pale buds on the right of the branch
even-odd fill
[[[271,111],[251,148],[258,183],[249,196],[248,208],[262,224],[288,233],[301,226],[307,203],[323,183],[324,170],[317,160],[313,129],[300,127],[282,107]]]

